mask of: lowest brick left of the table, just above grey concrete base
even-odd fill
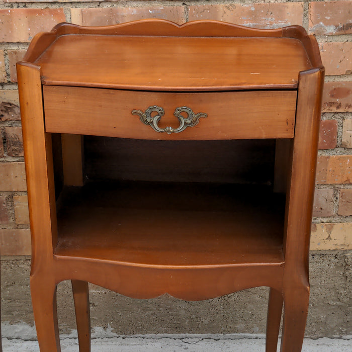
[[[0,229],[1,255],[31,255],[29,229]]]

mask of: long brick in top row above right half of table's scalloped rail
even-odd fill
[[[189,6],[189,20],[219,20],[255,28],[302,25],[303,3]]]

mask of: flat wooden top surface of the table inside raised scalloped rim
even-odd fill
[[[296,89],[312,68],[293,38],[59,36],[34,64],[43,84],[150,91]]]

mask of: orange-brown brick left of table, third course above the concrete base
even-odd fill
[[[0,163],[0,191],[26,191],[24,162]]]

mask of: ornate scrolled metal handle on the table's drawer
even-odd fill
[[[151,116],[151,114],[155,112],[156,115]],[[187,117],[182,116],[182,113],[186,113]],[[158,122],[161,119],[161,116],[165,114],[164,109],[160,108],[159,106],[150,106],[148,109],[143,111],[141,110],[132,110],[132,115],[138,115],[139,119],[146,125],[150,125],[150,127],[156,132],[166,132],[167,134],[180,133],[184,131],[187,127],[193,127],[198,125],[199,119],[201,117],[207,117],[208,115],[205,113],[198,113],[195,114],[192,109],[188,108],[187,106],[182,106],[180,108],[176,108],[173,115],[177,117],[180,121],[180,126],[178,128],[172,127],[165,127],[159,128]]]

